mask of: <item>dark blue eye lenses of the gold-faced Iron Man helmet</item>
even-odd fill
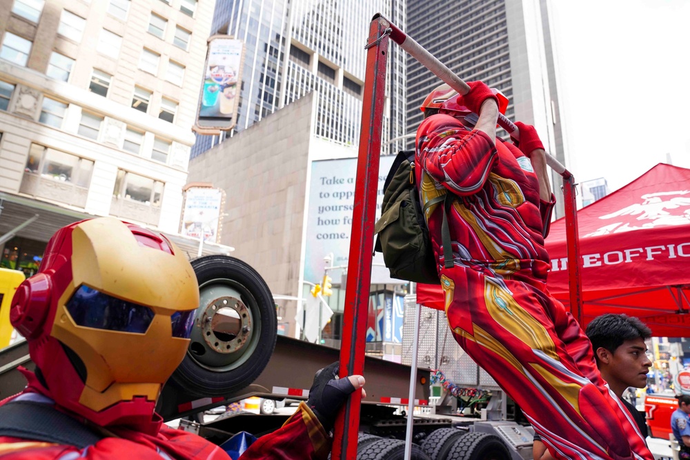
[[[88,286],[79,286],[66,304],[78,326],[144,334],[155,312],[138,303],[117,299]],[[175,312],[170,317],[173,337],[188,338],[196,310]]]

